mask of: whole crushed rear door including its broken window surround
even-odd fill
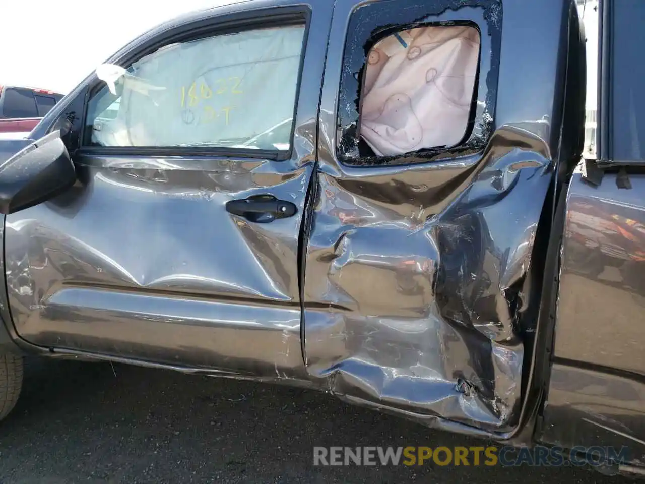
[[[517,424],[537,314],[527,313],[528,274],[541,270],[535,237],[552,210],[571,15],[565,0],[337,1],[304,286],[306,368],[320,385],[428,425]],[[413,144],[410,126],[436,121],[422,119],[409,79],[408,90],[387,90],[420,55],[407,31],[427,26],[479,32],[465,136],[379,156],[366,145]],[[377,140],[364,143],[366,66],[380,62],[373,47],[393,32],[407,60],[367,81],[390,104],[372,108]],[[379,52],[394,59],[400,47],[389,42]],[[424,68],[418,83],[450,91],[443,66]]]

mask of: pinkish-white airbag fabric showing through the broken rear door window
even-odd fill
[[[377,156],[457,145],[468,125],[478,61],[479,32],[469,26],[386,37],[368,55],[362,138]]]

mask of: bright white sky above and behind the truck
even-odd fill
[[[130,40],[184,12],[237,0],[3,0],[0,85],[26,85],[66,94]],[[588,0],[587,104],[595,108],[598,15]],[[580,7],[582,12],[582,6]],[[25,14],[28,13],[28,19]]]

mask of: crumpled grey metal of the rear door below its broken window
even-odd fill
[[[519,133],[533,149],[511,147]],[[332,392],[489,427],[519,409],[521,286],[551,161],[543,139],[513,126],[490,146],[392,172],[389,183],[357,176],[352,192],[319,176],[306,356]],[[446,192],[442,179],[468,186]],[[416,190],[427,181],[418,206],[401,201],[412,181]]]

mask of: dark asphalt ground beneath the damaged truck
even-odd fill
[[[621,483],[585,469],[313,467],[315,445],[482,445],[310,390],[32,360],[0,483]]]

